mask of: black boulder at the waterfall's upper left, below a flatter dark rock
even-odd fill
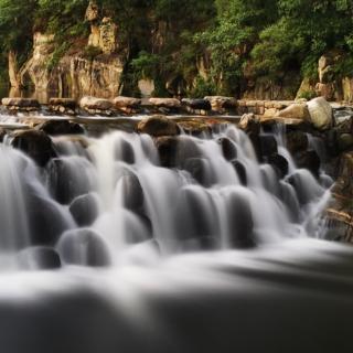
[[[44,167],[52,158],[56,157],[51,138],[39,130],[14,131],[11,145],[26,153],[40,167]]]

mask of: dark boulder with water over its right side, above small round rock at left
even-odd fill
[[[62,204],[69,204],[75,197],[87,194],[93,189],[89,170],[85,170],[89,169],[89,162],[85,159],[79,159],[79,162],[83,164],[54,158],[46,167],[49,190]]]

